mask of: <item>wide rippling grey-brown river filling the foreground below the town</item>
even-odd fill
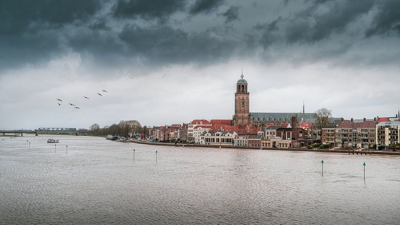
[[[400,157],[26,135],[0,172],[0,224],[400,223]]]

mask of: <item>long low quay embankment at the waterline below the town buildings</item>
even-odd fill
[[[389,155],[389,156],[400,156],[400,152],[385,152],[385,151],[350,151],[350,150],[340,150],[340,149],[307,149],[307,148],[288,148],[288,149],[278,149],[278,148],[252,148],[252,147],[236,147],[236,146],[218,146],[218,145],[196,145],[196,144],[182,144],[182,143],[161,143],[161,142],[149,142],[149,141],[137,141],[128,140],[125,142],[133,142],[137,144],[146,145],[164,145],[164,146],[176,146],[176,147],[200,147],[200,148],[228,148],[228,149],[249,149],[249,150],[277,150],[277,151],[299,151],[299,152],[325,152],[325,153],[342,153],[348,155]]]

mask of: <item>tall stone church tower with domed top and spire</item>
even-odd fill
[[[243,79],[243,71],[240,78],[236,82],[234,126],[250,125],[252,122],[249,113],[249,92],[247,91],[247,81]]]

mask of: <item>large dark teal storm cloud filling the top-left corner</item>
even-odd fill
[[[0,1],[0,70],[59,54],[62,27],[87,22],[100,6],[98,0]]]

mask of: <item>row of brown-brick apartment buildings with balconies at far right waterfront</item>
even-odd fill
[[[397,119],[397,118],[396,118]],[[353,118],[342,120],[339,125],[327,124],[322,129],[322,143],[333,143],[336,147],[388,149],[400,144],[400,121],[374,118],[355,122]]]

